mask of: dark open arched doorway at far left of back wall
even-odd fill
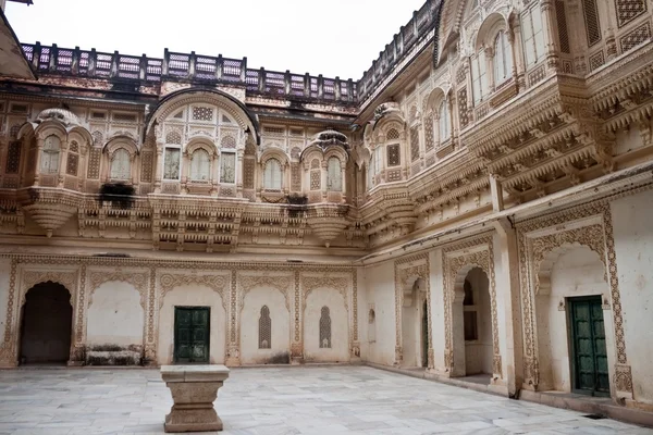
[[[23,306],[19,362],[69,361],[72,324],[71,294],[64,286],[47,282],[32,287]]]

